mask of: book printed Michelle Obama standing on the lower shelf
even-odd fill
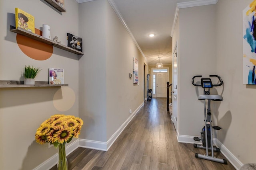
[[[49,68],[48,69],[49,84],[64,84],[64,69]]]

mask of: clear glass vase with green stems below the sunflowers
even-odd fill
[[[58,163],[57,170],[68,170],[68,160],[66,158],[66,144],[60,144],[58,146]]]

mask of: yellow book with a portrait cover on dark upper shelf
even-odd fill
[[[20,8],[15,8],[16,29],[22,28],[29,32],[35,33],[35,18]]]

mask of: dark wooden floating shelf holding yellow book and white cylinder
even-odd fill
[[[41,35],[37,35],[35,33],[28,32],[25,29],[21,29],[19,27],[16,29],[14,26],[10,25],[10,31],[12,31],[14,33],[17,33],[17,34],[20,34],[20,35],[24,35],[24,36],[29,37],[31,39],[34,39],[36,41],[40,41],[42,43],[46,43],[48,45],[52,45],[52,46],[57,47],[59,49],[63,49],[63,50],[69,51],[69,52],[74,53],[74,54],[78,54],[78,55],[83,55],[84,54],[81,51],[77,51],[77,50],[72,49],[72,48],[70,48],[68,46],[65,46],[65,45],[63,45],[61,43],[57,43],[57,42],[52,41],[50,39],[44,38]]]

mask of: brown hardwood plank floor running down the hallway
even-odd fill
[[[153,98],[145,101],[107,152],[78,148],[67,158],[69,170],[235,170],[230,162],[195,158],[195,152],[205,150],[178,143],[166,99]],[[214,155],[224,158],[221,153]]]

